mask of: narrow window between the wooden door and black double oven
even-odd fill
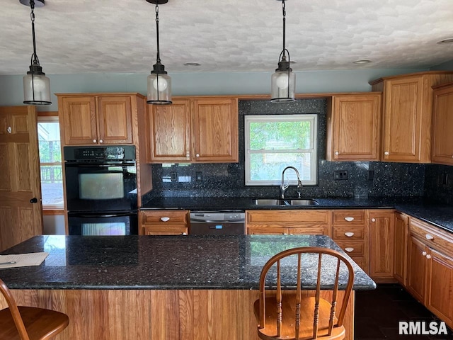
[[[43,209],[63,208],[62,149],[58,117],[38,116]]]

